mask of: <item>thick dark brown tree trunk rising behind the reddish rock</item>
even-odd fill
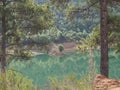
[[[100,0],[100,13],[101,13],[101,63],[100,72],[102,75],[108,77],[108,30],[107,30],[107,0]]]

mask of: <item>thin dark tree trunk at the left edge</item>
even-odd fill
[[[3,13],[2,13],[2,46],[1,46],[1,72],[2,74],[5,73],[6,67],[6,16],[5,16],[5,1],[3,1]]]

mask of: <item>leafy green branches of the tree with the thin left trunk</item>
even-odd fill
[[[13,49],[22,49],[24,48],[23,41],[27,36],[32,38],[33,35],[53,27],[53,14],[48,4],[39,5],[34,0],[5,0],[5,3],[7,4],[3,6],[2,1],[0,1],[0,18],[4,11],[6,13],[5,33],[8,47],[13,46]],[[49,41],[46,36],[35,37],[35,43],[41,43],[41,46],[48,44]],[[19,50],[19,55],[17,53],[15,55],[28,58],[30,53],[29,51],[21,51],[20,53]]]

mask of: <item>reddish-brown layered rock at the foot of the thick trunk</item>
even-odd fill
[[[109,79],[104,75],[96,75],[93,83],[94,90],[120,90],[120,80]]]

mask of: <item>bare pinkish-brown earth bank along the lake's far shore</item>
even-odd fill
[[[64,50],[62,52],[59,51],[58,46],[59,45],[63,45]],[[73,41],[69,41],[69,42],[64,42],[64,43],[54,43],[52,45],[47,46],[47,48],[49,49],[49,55],[56,55],[56,56],[62,56],[65,55],[69,52],[74,52],[77,50],[76,48],[76,43]],[[12,47],[7,48],[7,52],[9,54],[14,54],[14,50]],[[31,52],[33,55],[39,55],[39,54],[44,54],[44,52],[41,52],[41,50],[39,50],[37,47],[34,49],[31,49]]]

